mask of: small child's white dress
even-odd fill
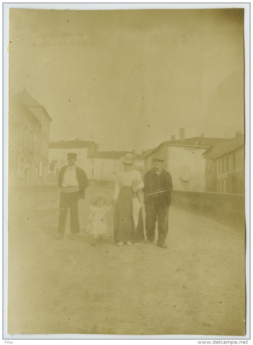
[[[112,209],[112,206],[90,206],[90,223],[87,226],[87,231],[93,235],[107,234],[107,220],[105,214]]]

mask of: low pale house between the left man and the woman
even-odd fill
[[[87,167],[87,175],[90,179],[115,181],[116,176],[120,170],[123,169],[123,164],[120,158],[127,153],[135,155],[135,151],[97,151],[88,156],[89,164]],[[136,165],[134,169],[140,170],[142,168],[140,161],[143,161],[140,155],[137,156]]]

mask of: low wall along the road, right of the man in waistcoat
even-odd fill
[[[171,206],[204,217],[244,226],[244,195],[173,190]]]

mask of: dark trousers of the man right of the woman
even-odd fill
[[[146,235],[154,241],[156,221],[158,224],[158,246],[165,242],[168,234],[169,207],[166,198],[149,198],[145,201]]]

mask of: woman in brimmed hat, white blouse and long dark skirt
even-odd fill
[[[135,228],[133,218],[133,197],[138,196],[138,190],[144,184],[138,170],[132,170],[134,156],[127,154],[120,158],[123,162],[124,171],[120,171],[115,183],[114,192],[114,240],[118,246],[124,243],[131,245],[135,242],[144,241],[142,209],[139,209],[138,224]]]

